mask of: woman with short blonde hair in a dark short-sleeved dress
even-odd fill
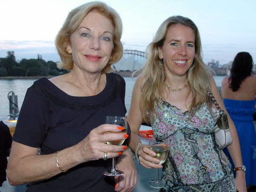
[[[132,154],[124,145],[106,144],[128,137],[106,133],[122,127],[105,124],[105,116],[126,114],[125,81],[108,73],[122,57],[121,34],[121,18],[104,3],[90,2],[69,13],[56,47],[61,67],[70,72],[39,79],[28,89],[8,162],[11,185],[30,183],[27,191],[33,192],[134,188]],[[111,168],[107,158],[117,156],[124,175],[114,181],[103,172]]]

